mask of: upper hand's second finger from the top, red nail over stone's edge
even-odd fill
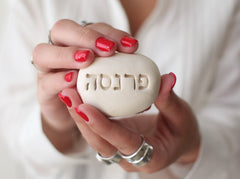
[[[117,49],[116,43],[102,33],[66,19],[55,23],[50,38],[56,45],[90,48],[99,56],[113,55]]]

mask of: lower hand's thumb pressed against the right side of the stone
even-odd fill
[[[161,77],[161,87],[155,101],[157,109],[167,118],[174,119],[179,115],[182,100],[172,91],[176,75],[169,73]]]

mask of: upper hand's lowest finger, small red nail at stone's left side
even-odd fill
[[[56,100],[56,95],[65,88],[76,85],[78,72],[75,70],[57,73],[40,73],[38,75],[38,98],[40,104]],[[71,106],[70,103],[68,103]]]

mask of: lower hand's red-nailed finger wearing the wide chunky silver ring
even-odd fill
[[[87,104],[82,104],[75,109],[77,114],[80,116],[78,120],[85,121],[94,133],[98,134],[110,144],[115,146],[122,154],[132,155],[141,146],[142,137],[140,137],[140,134],[134,133],[122,127],[118,123],[107,119],[96,108]],[[121,165],[124,169],[127,171],[129,169],[131,171],[151,172],[157,171],[157,169],[163,167],[162,159],[164,157],[162,156],[162,146],[159,145],[159,142],[157,143],[156,140],[156,143],[154,143],[153,139],[147,138],[146,142],[153,144],[154,147],[153,156],[149,163],[143,167],[135,167],[124,160],[124,165]]]

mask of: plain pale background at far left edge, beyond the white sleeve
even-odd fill
[[[8,4],[10,2],[10,0],[0,0],[0,41],[3,36],[2,34],[6,23],[6,17],[8,16]],[[24,174],[22,166],[14,161],[14,158],[10,156],[0,131],[0,179],[26,178],[28,177]]]

